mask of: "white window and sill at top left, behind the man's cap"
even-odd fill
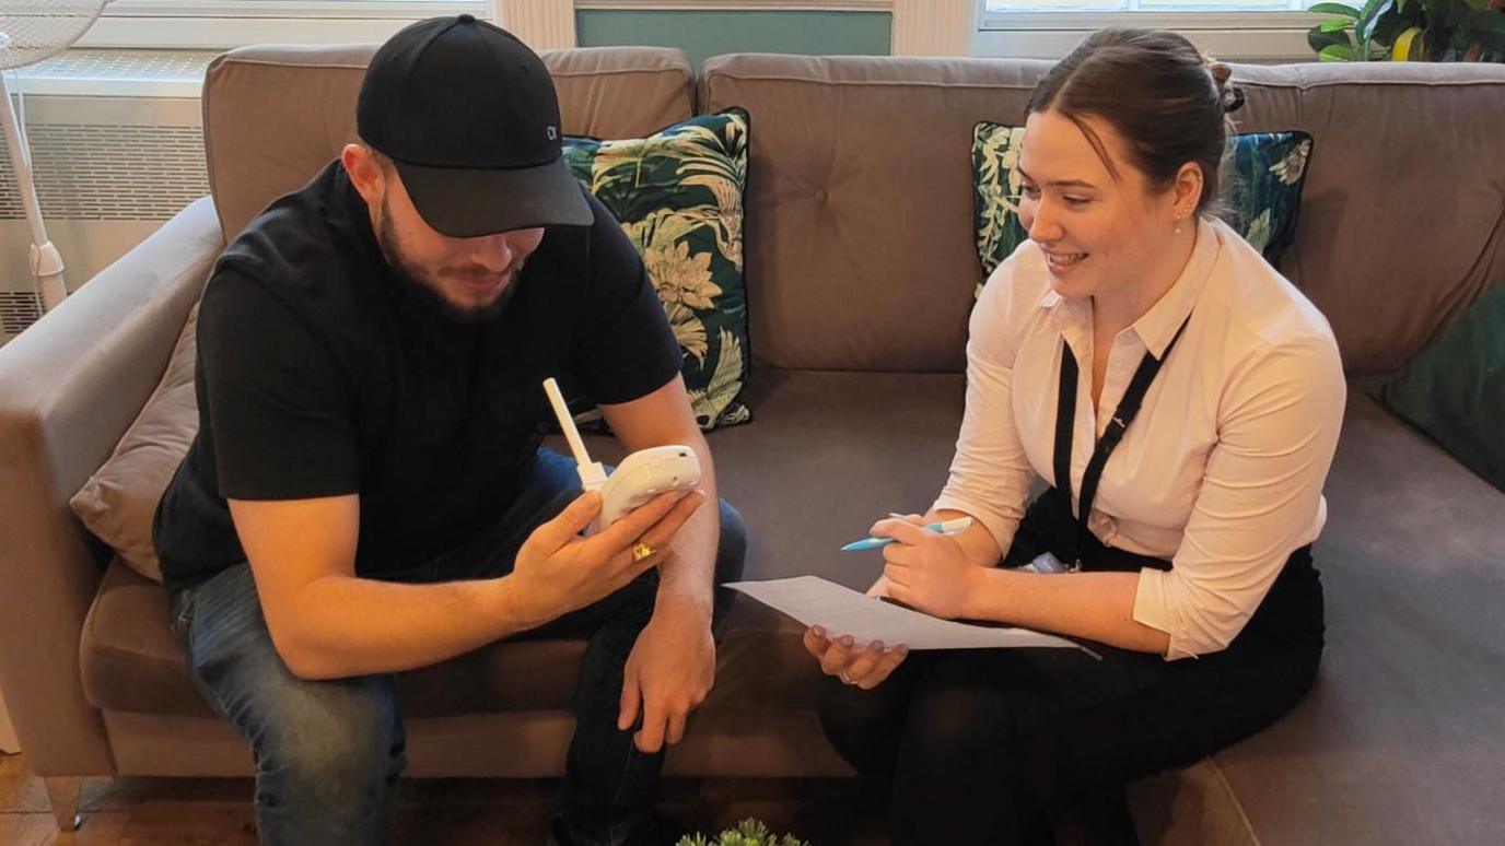
[[[114,0],[83,47],[223,50],[382,42],[432,15],[489,17],[488,0]]]

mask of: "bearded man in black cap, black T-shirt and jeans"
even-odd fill
[[[528,632],[588,638],[551,841],[662,841],[662,748],[710,689],[713,586],[745,546],[736,512],[698,507],[715,474],[674,336],[512,35],[397,33],[357,129],[215,266],[200,431],[155,524],[194,682],[254,753],[260,837],[390,835],[393,674]],[[626,449],[695,449],[701,491],[581,536],[600,498],[539,450],[551,375]]]

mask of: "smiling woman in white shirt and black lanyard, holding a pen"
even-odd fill
[[[891,784],[895,844],[1014,843],[1044,807],[1239,741],[1312,683],[1345,387],[1321,315],[1210,214],[1243,102],[1227,78],[1181,36],[1105,30],[1029,101],[1029,242],[972,313],[945,489],[873,527],[897,542],[871,593],[1102,661],[808,631],[826,733]],[[1032,476],[1052,486],[1026,509]],[[917,525],[962,515],[957,536]]]

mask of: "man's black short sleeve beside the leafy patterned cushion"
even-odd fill
[[[622,226],[594,197],[585,307],[572,366],[588,396],[600,403],[631,402],[679,373],[683,354]]]

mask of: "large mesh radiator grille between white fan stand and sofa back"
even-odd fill
[[[44,218],[167,220],[209,193],[199,126],[33,123],[27,138]],[[24,214],[0,140],[0,220]]]

